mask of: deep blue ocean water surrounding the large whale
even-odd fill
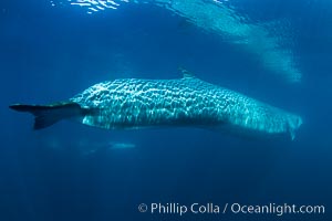
[[[65,1],[54,7],[50,1],[1,1],[0,220],[331,219],[332,3],[224,3],[250,18],[251,25],[273,28],[271,38],[292,51],[300,82],[270,74],[257,54],[247,52],[252,48],[241,50],[183,13],[153,3],[122,2],[116,10],[89,14]],[[34,131],[31,116],[8,108],[12,103],[63,101],[106,80],[177,78],[178,66],[301,115],[295,140],[197,128],[107,131],[70,122]],[[324,206],[325,213],[179,215],[137,210],[141,203],[196,202],[220,208]]]

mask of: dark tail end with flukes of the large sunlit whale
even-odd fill
[[[10,108],[18,112],[29,112],[34,115],[33,129],[49,127],[62,119],[81,117],[87,114],[89,109],[82,108],[74,102],[55,103],[51,105],[25,105],[14,104]]]

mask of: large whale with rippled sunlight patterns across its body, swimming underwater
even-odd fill
[[[74,118],[89,126],[126,129],[157,126],[220,127],[227,130],[289,135],[300,116],[201,81],[187,71],[177,80],[123,78],[95,84],[63,103],[14,104],[34,115],[34,129]]]

